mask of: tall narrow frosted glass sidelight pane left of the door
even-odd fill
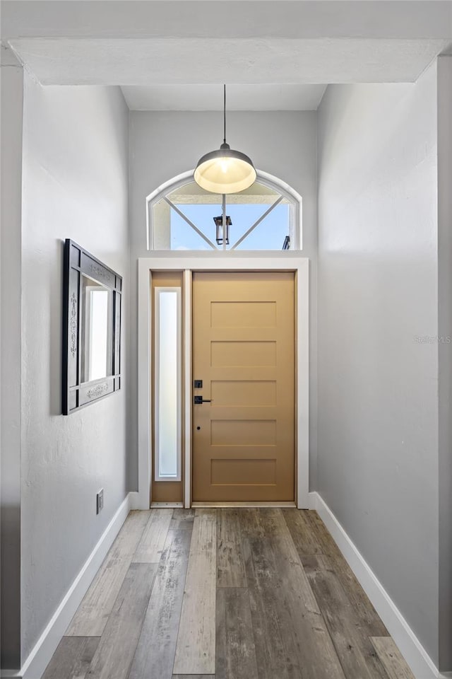
[[[181,290],[155,288],[155,480],[180,480]]]

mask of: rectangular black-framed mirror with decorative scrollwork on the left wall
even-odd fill
[[[122,277],[64,243],[63,414],[121,388]]]

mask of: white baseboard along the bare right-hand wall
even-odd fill
[[[448,673],[439,673],[432,658],[319,493],[309,493],[309,509],[319,512],[416,679],[447,679]]]

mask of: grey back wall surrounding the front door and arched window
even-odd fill
[[[259,170],[290,184],[303,198],[303,254],[311,258],[310,451],[311,485],[316,478],[316,112],[230,112],[227,141],[247,153]],[[131,112],[130,114],[130,220],[131,295],[136,300],[137,257],[146,250],[145,197],[163,182],[194,169],[203,153],[222,142],[220,112]],[[131,307],[131,328],[136,337],[136,301]],[[137,487],[137,357],[131,342],[131,489]]]

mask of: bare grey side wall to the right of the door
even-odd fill
[[[436,67],[319,110],[319,492],[438,661]]]

